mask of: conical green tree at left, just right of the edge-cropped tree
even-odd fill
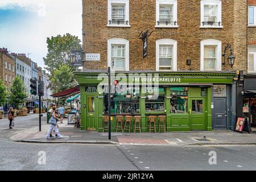
[[[23,104],[27,98],[26,86],[20,77],[16,76],[10,86],[9,104],[13,105],[16,109],[20,104]]]

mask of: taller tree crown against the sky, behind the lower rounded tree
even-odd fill
[[[80,42],[77,36],[70,34],[47,38],[48,53],[46,57],[43,57],[47,71],[53,75],[55,69],[59,69],[61,65],[70,65],[70,50],[74,44],[80,44]],[[75,68],[72,68],[72,71],[75,71]]]

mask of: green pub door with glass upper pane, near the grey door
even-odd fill
[[[191,115],[191,130],[207,130],[205,119],[205,98],[191,98],[189,114]]]

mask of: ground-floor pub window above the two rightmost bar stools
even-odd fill
[[[164,94],[148,95],[145,105],[146,112],[164,112]]]

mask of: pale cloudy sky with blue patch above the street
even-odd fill
[[[0,0],[0,48],[44,68],[47,38],[66,33],[82,40],[82,0]]]

